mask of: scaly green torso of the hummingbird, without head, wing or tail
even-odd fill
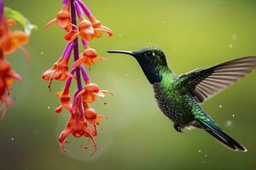
[[[154,98],[160,110],[180,129],[195,125],[194,114],[205,115],[200,105],[189,95],[176,90],[178,77],[171,71],[162,72],[162,81],[152,84]]]

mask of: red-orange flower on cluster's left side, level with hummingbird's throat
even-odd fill
[[[42,77],[46,82],[49,82],[48,88],[50,88],[54,79],[64,82],[69,77],[73,77],[68,72],[68,59],[61,57],[48,71],[44,71]]]

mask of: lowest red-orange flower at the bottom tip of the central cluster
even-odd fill
[[[67,136],[72,134],[75,138],[80,138],[82,136],[87,137],[93,142],[94,151],[92,154],[96,151],[96,142],[94,141],[93,137],[97,135],[96,130],[88,127],[86,120],[84,117],[79,116],[79,113],[71,113],[71,117],[69,121],[67,122],[67,125],[65,129],[61,132],[59,136],[59,142],[61,144],[61,152],[66,152],[64,150],[64,145],[66,143]],[[84,147],[84,149],[87,149],[87,146]]]

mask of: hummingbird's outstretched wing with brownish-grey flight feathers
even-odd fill
[[[190,94],[197,102],[202,103],[242,77],[246,77],[253,69],[256,69],[256,56],[233,59],[181,75],[177,88],[181,93]]]

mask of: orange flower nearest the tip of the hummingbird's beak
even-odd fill
[[[82,64],[87,66],[94,65],[96,63],[96,60],[102,60],[102,61],[106,60],[106,58],[104,57],[97,57],[97,56],[98,54],[95,49],[86,48],[84,49],[84,52],[80,54],[80,58],[73,63],[73,68],[78,67],[79,65],[82,65]]]

